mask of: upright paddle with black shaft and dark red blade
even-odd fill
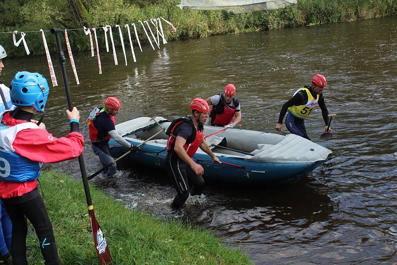
[[[66,92],[67,106],[69,108],[69,111],[72,111],[73,102],[71,100],[69,85],[67,82],[67,74],[66,74],[66,67],[65,67],[66,59],[65,59],[64,49],[62,48],[61,38],[60,38],[60,34],[62,32],[63,31],[59,28],[51,29],[51,33],[55,34],[55,40],[57,43],[58,57],[59,57],[59,62],[60,62],[60,66],[61,66],[61,71],[62,71],[62,78],[64,80],[65,92]],[[95,217],[94,207],[92,206],[92,200],[91,200],[91,195],[90,195],[90,189],[88,186],[87,172],[85,170],[84,159],[83,159],[82,153],[78,156],[78,163],[80,165],[80,172],[81,172],[81,178],[83,180],[85,199],[87,200],[88,214],[90,216],[91,230],[92,230],[92,234],[93,234],[96,253],[97,253],[97,256],[99,259],[99,264],[100,265],[109,265],[109,264],[112,264],[109,245],[107,244],[106,239],[103,236],[102,230],[99,226],[99,223]],[[101,249],[101,252],[99,252],[99,249]]]

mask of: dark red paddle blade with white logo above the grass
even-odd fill
[[[95,218],[94,210],[93,209],[88,210],[88,214],[90,216],[91,229],[92,229],[92,234],[94,236],[94,243],[95,243],[96,253],[99,259],[99,264],[100,265],[112,264],[109,246],[106,242],[105,236],[103,235],[101,227],[99,226],[99,223]]]

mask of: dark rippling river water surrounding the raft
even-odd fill
[[[117,179],[101,187],[109,196],[160,219],[188,219],[255,264],[397,263],[397,17],[175,41],[156,51],[144,46],[135,64],[128,53],[128,66],[121,48],[117,53],[120,66],[111,52],[101,51],[102,75],[89,52],[74,53],[78,86],[67,64],[81,120],[107,96],[122,102],[118,123],[140,116],[173,119],[189,114],[192,98],[234,83],[242,105],[239,128],[271,131],[282,104],[317,72],[327,77],[326,104],[337,116],[331,140],[319,138],[320,108],[307,120],[312,140],[333,153],[298,182],[209,184],[205,196],[189,199],[175,215],[169,209],[175,190],[165,172],[124,162]],[[6,84],[17,70],[49,76],[43,56],[3,62]],[[66,97],[55,55],[53,62],[60,86],[51,87],[45,123],[63,136]],[[88,174],[100,168],[89,144],[84,160]],[[80,176],[77,161],[55,166]]]

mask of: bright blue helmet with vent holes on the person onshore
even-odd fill
[[[43,112],[50,88],[46,78],[37,72],[17,72],[11,81],[10,97],[15,106],[33,106]]]

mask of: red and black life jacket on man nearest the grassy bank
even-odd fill
[[[186,140],[186,143],[183,146],[189,157],[192,157],[195,155],[197,149],[199,149],[204,128],[201,124],[199,124],[198,129],[196,130],[195,124],[189,117],[175,119],[168,127],[168,130],[166,132],[166,134],[169,135],[167,141],[167,151],[174,150],[175,139],[178,135],[174,135],[173,133],[175,131],[175,128],[177,128],[177,126],[183,122],[189,123],[193,129],[192,135]]]

